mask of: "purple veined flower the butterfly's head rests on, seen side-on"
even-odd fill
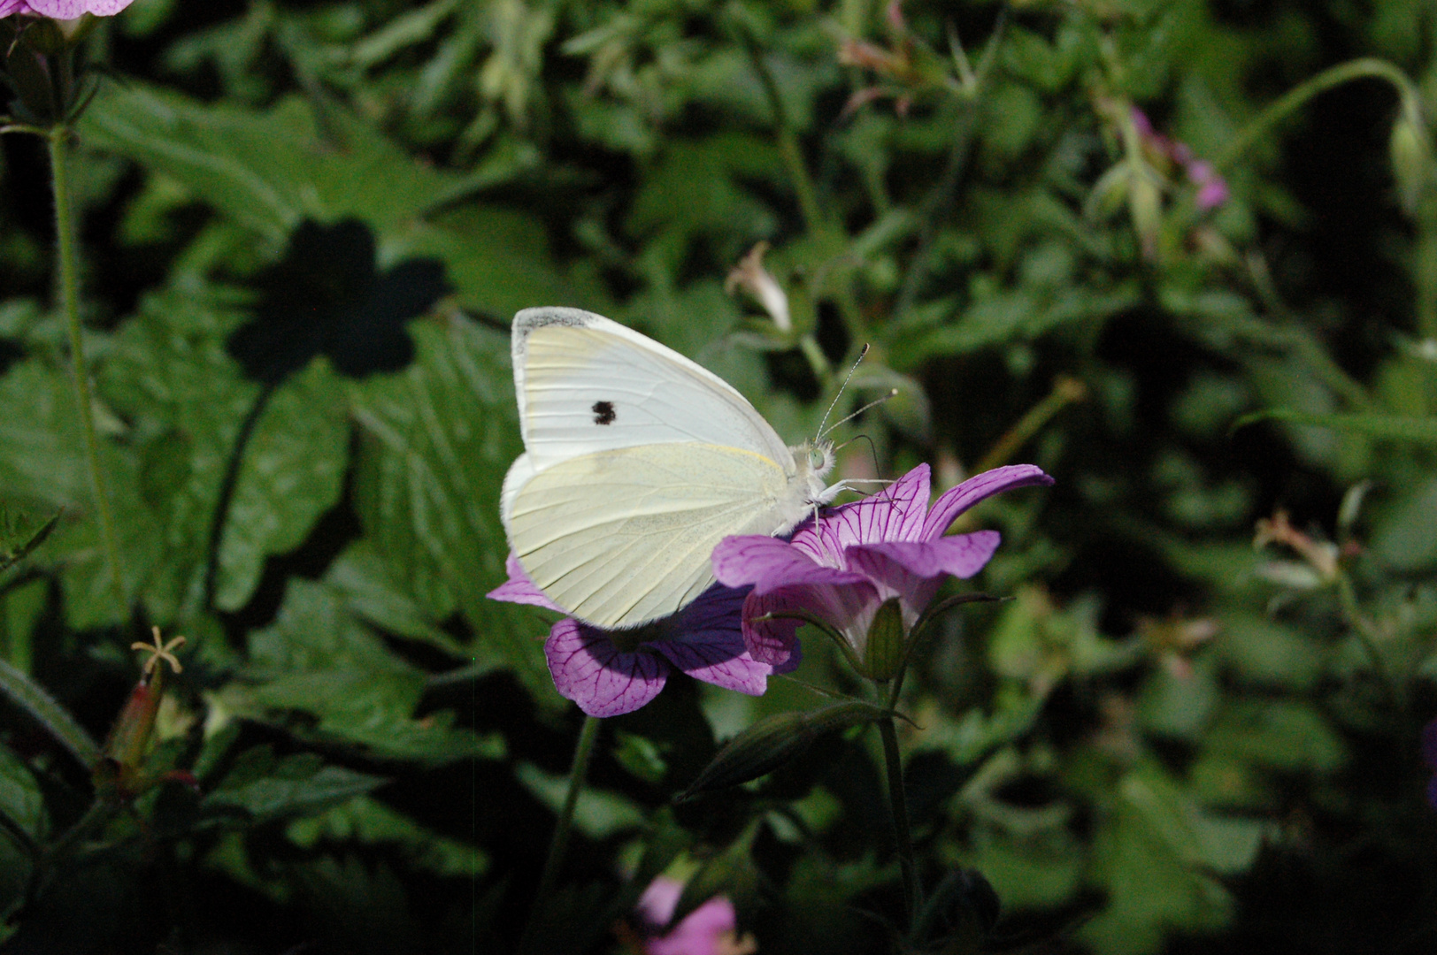
[[[980,530],[944,537],[948,524],[979,501],[1016,487],[1052,484],[1032,464],[984,471],[928,508],[928,465],[887,490],[819,517],[792,541],[726,537],[714,549],[714,576],[731,587],[753,584],[743,609],[743,638],[753,659],[786,666],[798,651],[792,619],[803,613],[836,630],[864,659],[879,607],[897,599],[908,633],[947,576],[971,577],[997,550],[999,534]]]

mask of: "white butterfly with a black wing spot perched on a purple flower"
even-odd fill
[[[592,312],[514,316],[525,454],[500,517],[529,577],[572,616],[629,628],[714,580],[730,534],[783,534],[842,490],[826,442],[790,448],[731,385]]]

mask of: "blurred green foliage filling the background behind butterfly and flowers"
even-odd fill
[[[135,0],[89,45],[114,79],[75,180],[124,593],[45,154],[6,136],[11,951],[514,944],[579,724],[550,618],[483,596],[520,449],[507,327],[536,304],[664,340],[793,441],[868,343],[845,406],[901,393],[848,474],[1058,478],[973,516],[1004,536],[981,589],[1016,599],[951,618],[904,698],[925,879],[1002,900],[950,951],[1437,948],[1430,3]],[[759,241],[790,330],[726,292]],[[188,643],[147,773],[198,787],[68,842],[72,754],[151,625]],[[851,679],[816,640],[798,676]],[[606,721],[543,951],[622,951],[680,853],[760,952],[884,951],[871,738],[670,804],[716,740],[819,701],[674,679]]]

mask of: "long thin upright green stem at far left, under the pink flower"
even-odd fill
[[[55,190],[55,241],[60,251],[60,307],[65,310],[65,325],[70,339],[70,368],[75,373],[75,405],[85,431],[85,457],[89,462],[91,491],[95,494],[95,517],[99,521],[101,546],[105,549],[105,563],[109,567],[109,583],[115,599],[115,612],[125,615],[125,587],[119,576],[119,543],[115,537],[115,521],[109,513],[109,494],[105,490],[105,472],[99,462],[99,438],[95,437],[95,408],[91,399],[89,369],[85,365],[85,342],[80,329],[79,270],[75,264],[75,220],[70,211],[70,187],[66,171],[66,145],[69,126],[59,125],[49,131],[50,181]]]

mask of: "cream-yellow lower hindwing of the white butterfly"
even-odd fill
[[[599,451],[537,472],[526,462],[510,478],[519,562],[556,603],[605,629],[668,616],[703,593],[714,546],[770,533],[789,488],[777,461],[698,442]]]

